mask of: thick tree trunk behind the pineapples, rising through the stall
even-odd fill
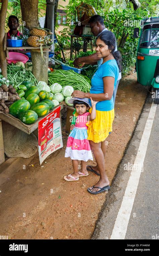
[[[22,20],[25,26],[39,27],[38,21],[38,0],[20,0]],[[33,74],[38,81],[48,83],[48,59],[49,52],[43,52],[43,58],[39,49],[31,50]]]

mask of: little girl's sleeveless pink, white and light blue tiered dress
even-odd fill
[[[87,125],[90,113],[86,112],[83,115],[78,115],[75,126],[68,136],[65,157],[70,157],[72,160],[93,160],[90,143],[87,140]]]

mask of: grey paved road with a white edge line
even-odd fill
[[[140,170],[132,170],[134,163]],[[159,239],[158,170],[159,105],[156,107],[149,96],[92,239]]]

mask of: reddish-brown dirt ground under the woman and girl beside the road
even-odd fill
[[[108,137],[105,157],[110,183],[146,99],[147,89],[136,81],[136,74],[132,73],[118,87],[113,132]],[[9,239],[90,239],[107,195],[87,192],[99,179],[92,172],[77,182],[64,181],[72,166],[71,160],[64,158],[68,135],[65,120],[62,124],[64,147],[50,155],[42,166],[38,154],[26,169],[18,164],[0,186],[0,235],[8,235]]]

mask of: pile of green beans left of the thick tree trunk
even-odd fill
[[[38,84],[38,80],[32,74],[32,72],[16,66],[13,63],[7,65],[7,77],[8,80],[14,84],[19,85],[22,81],[30,81],[33,85]]]

